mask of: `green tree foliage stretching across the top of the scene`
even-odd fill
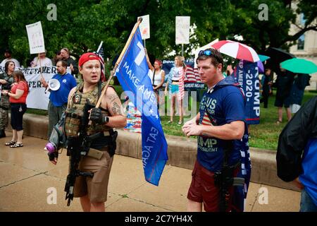
[[[185,57],[192,49],[219,38],[231,39],[242,35],[246,44],[261,52],[266,47],[287,47],[297,40],[288,35],[290,24],[295,23],[295,12],[287,1],[277,0],[222,0],[222,1],[171,1],[171,0],[101,0],[56,1],[57,20],[48,20],[49,0],[13,0],[0,2],[0,51],[10,47],[13,57],[25,65],[30,56],[25,25],[42,22],[48,57],[61,47],[68,47],[71,54],[97,49],[104,41],[106,57],[120,54],[138,16],[150,15],[151,38],[147,49],[156,58],[165,58],[175,50],[180,54],[181,45],[175,44],[175,16],[190,16],[195,29],[190,44],[185,44]],[[304,13],[306,30],[316,30],[316,1],[298,1],[297,13]],[[259,20],[259,4],[267,4],[268,20]],[[290,41],[290,42],[288,42]],[[108,66],[110,69],[111,66]]]

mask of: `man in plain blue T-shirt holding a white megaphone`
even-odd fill
[[[67,107],[67,98],[70,90],[74,88],[77,83],[70,73],[67,73],[67,63],[66,61],[58,61],[56,63],[57,73],[53,76],[53,78],[57,79],[60,83],[60,87],[58,90],[49,90],[51,94],[49,95],[49,136],[51,136],[51,131],[53,130],[53,126],[61,119],[61,115],[63,111],[66,110]],[[52,78],[52,79],[53,79]],[[44,78],[41,78],[42,85],[47,88],[49,85]]]

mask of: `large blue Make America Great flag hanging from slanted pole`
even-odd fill
[[[116,69],[116,76],[129,100],[142,114],[144,176],[147,182],[158,186],[168,160],[167,143],[148,73],[149,66],[138,28]]]

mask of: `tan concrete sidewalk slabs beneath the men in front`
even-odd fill
[[[66,206],[66,150],[58,157],[58,164],[53,165],[43,150],[47,141],[25,136],[23,148],[9,148],[4,143],[10,141],[11,133],[6,134],[6,138],[0,138],[0,211],[82,211],[78,198]],[[166,165],[159,186],[154,186],[144,180],[142,160],[115,155],[106,211],[186,211],[191,172]],[[56,191],[56,204],[48,203],[52,191]],[[266,191],[267,204],[263,203]],[[297,191],[250,183],[246,211],[297,212],[299,201]]]

